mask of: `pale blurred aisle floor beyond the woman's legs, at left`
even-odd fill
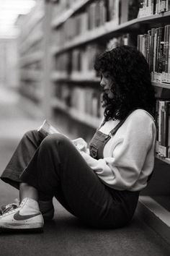
[[[27,101],[26,101],[27,102]],[[24,106],[24,98],[14,92],[0,86],[0,174],[6,163],[12,156],[17,143],[29,129],[35,129],[41,123],[41,119],[31,115],[30,108]],[[28,108],[28,111],[26,111]],[[1,204],[11,202],[17,196],[17,190],[12,189],[4,182],[0,183]]]

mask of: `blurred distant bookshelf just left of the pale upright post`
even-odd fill
[[[41,85],[44,58],[44,14],[44,1],[37,0],[31,12],[19,17],[20,20],[18,21],[20,28],[18,39],[19,91],[35,103],[41,103],[43,99]]]

